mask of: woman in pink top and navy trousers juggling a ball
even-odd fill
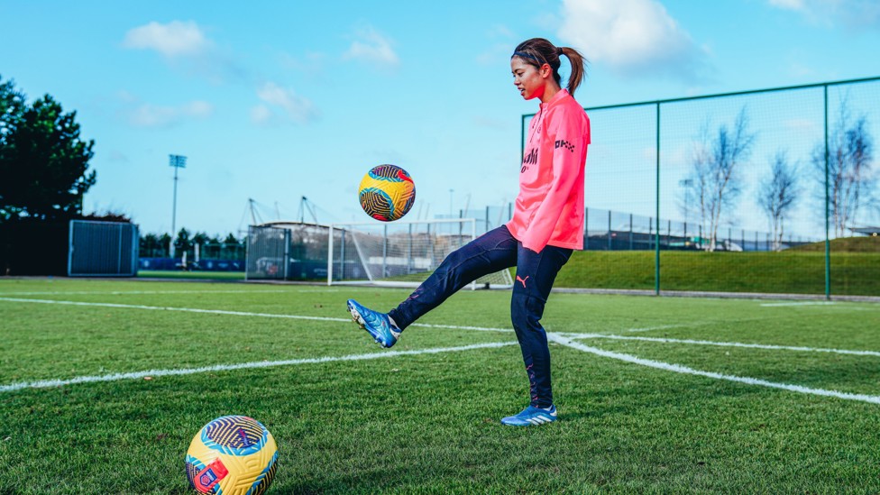
[[[567,88],[561,87],[560,57],[571,64]],[[550,380],[550,349],[541,316],[556,273],[583,248],[583,172],[590,143],[590,119],[573,94],[584,75],[584,59],[572,48],[543,38],[520,43],[510,57],[513,84],[520,96],[539,101],[528,128],[519,169],[519,195],[507,225],[482,234],[452,252],[412,295],[389,313],[348,309],[383,347],[394,345],[408,325],[439,306],[458,289],[483,275],[517,267],[510,318],[526,365],[531,401],[511,426],[556,420]]]

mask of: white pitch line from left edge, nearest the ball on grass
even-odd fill
[[[79,376],[69,380],[39,380],[39,381],[23,381],[18,383],[10,383],[9,385],[0,385],[0,393],[11,392],[23,389],[47,389],[51,387],[62,387],[65,385],[74,385],[78,383],[94,383],[98,381],[118,381],[118,380],[138,380],[145,377],[163,377],[163,376],[180,376],[191,375],[196,373],[206,373],[211,371],[234,371],[256,368],[272,368],[277,366],[291,366],[297,364],[315,364],[320,362],[341,362],[341,361],[364,361],[370,359],[381,359],[398,356],[411,356],[419,354],[438,354],[438,353],[457,353],[462,351],[472,351],[474,349],[491,349],[514,345],[516,342],[492,342],[488,344],[472,344],[463,345],[461,347],[435,347],[431,349],[421,349],[417,351],[385,351],[382,353],[369,354],[349,354],[347,356],[325,356],[320,358],[307,359],[290,359],[285,361],[258,361],[258,362],[241,362],[238,364],[215,364],[213,366],[202,366],[200,368],[184,368],[179,370],[150,370],[150,371],[133,371],[129,373],[113,373],[109,375],[95,376]]]

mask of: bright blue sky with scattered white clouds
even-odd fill
[[[357,186],[381,163],[415,180],[408,219],[507,205],[537,110],[509,57],[533,37],[586,56],[586,107],[880,76],[875,0],[0,0],[0,19],[0,77],[95,141],[86,213],[154,234],[368,222]],[[587,206],[627,211],[589,192],[603,156]]]

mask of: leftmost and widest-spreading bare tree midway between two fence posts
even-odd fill
[[[708,251],[718,244],[718,227],[722,213],[732,207],[742,190],[739,169],[751,154],[755,134],[748,131],[748,116],[744,106],[734,121],[733,128],[721,124],[717,133],[708,125],[703,128],[701,146],[693,150],[692,170],[688,188],[697,201],[701,225],[709,235]]]

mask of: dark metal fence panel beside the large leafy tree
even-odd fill
[[[138,269],[138,228],[133,224],[71,220],[69,277],[133,277]]]

